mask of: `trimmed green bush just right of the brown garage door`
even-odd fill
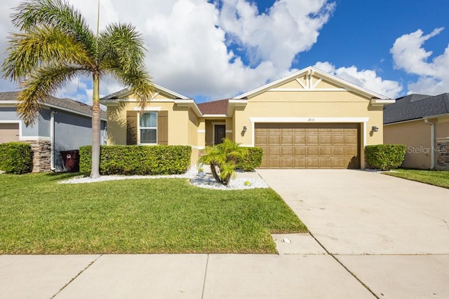
[[[396,169],[401,166],[406,155],[403,144],[377,144],[365,146],[368,167],[382,170]]]

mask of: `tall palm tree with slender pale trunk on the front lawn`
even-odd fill
[[[63,0],[29,0],[15,8],[4,78],[19,83],[18,115],[25,125],[38,116],[41,99],[77,76],[93,78],[92,170],[100,176],[100,78],[114,76],[129,86],[140,106],[151,99],[152,80],[145,71],[145,45],[133,25],[110,24],[96,34],[79,11]]]

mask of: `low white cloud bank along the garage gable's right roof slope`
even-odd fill
[[[330,62],[317,62],[314,67],[391,99],[398,97],[402,90],[397,81],[384,80],[370,69],[358,71],[355,66],[336,69]]]

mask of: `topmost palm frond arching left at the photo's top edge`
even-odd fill
[[[15,11],[11,18],[13,25],[20,31],[28,32],[41,26],[55,27],[83,43],[91,55],[95,56],[95,35],[83,15],[67,1],[29,0],[20,3]]]

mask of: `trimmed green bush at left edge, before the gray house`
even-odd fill
[[[7,142],[0,144],[0,169],[7,174],[26,174],[31,172],[33,151],[29,144]]]

